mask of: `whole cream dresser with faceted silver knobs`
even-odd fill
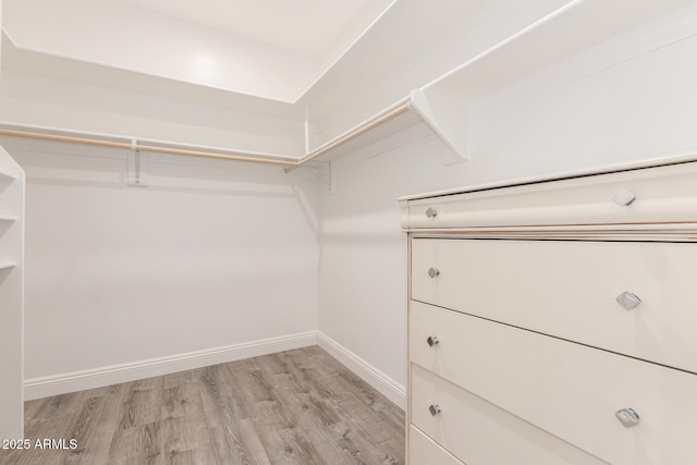
[[[411,465],[697,464],[697,161],[400,199]]]

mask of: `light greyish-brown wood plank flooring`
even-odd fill
[[[29,401],[0,464],[403,464],[404,412],[306,347]]]

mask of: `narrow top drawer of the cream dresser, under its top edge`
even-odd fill
[[[403,225],[418,230],[697,221],[696,186],[697,163],[690,162],[482,188],[409,199]]]

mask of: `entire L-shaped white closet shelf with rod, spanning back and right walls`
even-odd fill
[[[414,89],[408,96],[374,114],[353,129],[308,151],[303,157],[255,152],[234,148],[206,150],[161,142],[136,140],[145,151],[212,157],[277,164],[291,172],[319,157],[334,157],[374,143],[418,122],[416,113],[455,155],[467,159],[466,105],[468,101],[587,50],[639,25],[684,7],[694,0],[572,0],[449,73]],[[412,111],[409,111],[412,110]],[[407,114],[407,117],[403,117]],[[392,121],[394,120],[394,121]],[[50,131],[0,122],[0,135],[132,148],[133,138],[103,137],[71,130]],[[114,140],[117,139],[117,140]],[[124,142],[126,139],[127,142]],[[351,144],[347,144],[350,143]],[[174,145],[180,147],[173,147]],[[2,173],[0,173],[0,176]],[[4,174],[13,179],[11,174]]]

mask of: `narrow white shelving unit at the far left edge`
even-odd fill
[[[24,437],[24,184],[0,147],[0,438]]]

